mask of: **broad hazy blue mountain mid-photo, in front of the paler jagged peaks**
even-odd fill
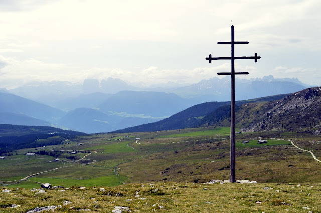
[[[193,100],[173,93],[121,91],[98,106],[104,112],[126,112],[142,117],[168,117],[192,106]]]

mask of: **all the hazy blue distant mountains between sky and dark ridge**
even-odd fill
[[[110,132],[161,121],[204,102],[229,101],[229,81],[229,78],[212,78],[176,88],[169,85],[139,88],[112,78],[100,82],[87,79],[83,84],[34,82],[1,90],[0,123],[50,125],[86,133]],[[273,76],[236,81],[238,100],[296,92],[306,86],[297,79],[274,79]],[[208,109],[213,111],[222,104],[217,102]],[[204,112],[201,116],[205,116]],[[180,122],[177,119],[172,125],[183,127]],[[193,119],[187,123],[195,125]]]

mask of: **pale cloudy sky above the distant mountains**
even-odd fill
[[[242,78],[321,82],[319,0],[1,0],[0,88],[120,78],[193,84],[229,72],[231,25]]]

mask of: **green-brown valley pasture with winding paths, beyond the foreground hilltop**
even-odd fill
[[[268,142],[259,144],[261,138]],[[318,159],[321,156],[318,136],[282,131],[237,134],[237,179],[318,182],[321,164],[289,139]],[[39,151],[45,154],[26,155]],[[13,181],[8,187],[25,188],[37,187],[37,182],[70,187],[228,179],[229,128],[78,136],[63,144],[9,153],[0,161],[0,171],[4,186],[6,181]],[[43,171],[48,172],[40,173]],[[28,181],[21,181],[23,178]]]

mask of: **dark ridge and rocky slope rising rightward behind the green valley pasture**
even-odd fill
[[[321,134],[321,87],[236,102],[241,131],[302,131]],[[209,102],[190,107],[167,119],[115,132],[140,132],[230,125],[230,103]]]

